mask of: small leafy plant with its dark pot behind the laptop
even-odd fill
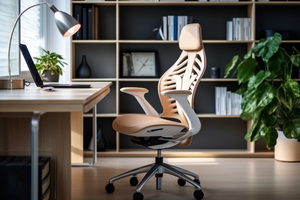
[[[64,58],[61,55],[42,50],[46,55],[42,55],[40,58],[34,57],[37,60],[36,68],[45,82],[58,82],[59,75],[63,75],[61,66],[64,67],[64,64],[67,63],[62,61]]]

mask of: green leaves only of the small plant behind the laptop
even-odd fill
[[[46,55],[42,55],[40,58],[34,57],[37,60],[35,65],[40,74],[43,75],[46,70],[52,70],[51,75],[55,72],[59,75],[63,75],[63,70],[58,64],[61,64],[64,68],[64,64],[67,64],[62,61],[64,58],[56,53],[50,53],[44,49],[42,50],[46,53]]]

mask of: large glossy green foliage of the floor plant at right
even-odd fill
[[[233,73],[237,72],[238,84],[241,85],[235,93],[243,95],[240,117],[253,120],[245,140],[253,142],[263,137],[268,149],[276,145],[278,132],[273,127],[276,123],[286,138],[300,142],[300,87],[297,81],[291,79],[292,69],[300,66],[300,52],[293,47],[293,53],[289,55],[279,46],[281,39],[281,35],[276,33],[261,39],[244,56],[244,60],[234,56],[226,65],[224,76],[226,78],[237,61],[241,61]],[[264,70],[260,70],[253,54],[262,58]],[[275,78],[280,79],[278,88],[274,86]]]

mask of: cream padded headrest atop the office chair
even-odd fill
[[[199,50],[202,47],[200,29],[201,26],[198,23],[185,25],[180,34],[179,48],[181,50]]]

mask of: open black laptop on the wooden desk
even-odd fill
[[[38,87],[42,87],[42,88],[43,87],[55,87],[55,88],[89,88],[89,87],[91,87],[91,85],[44,84],[26,45],[19,44],[19,47],[20,47],[21,52],[24,56],[24,59],[27,63],[29,71],[30,71],[31,75],[33,76],[35,83]]]

